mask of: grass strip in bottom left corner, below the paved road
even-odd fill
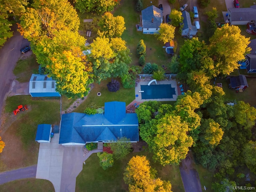
[[[21,179],[2,184],[0,192],[54,192],[53,184],[44,179]]]

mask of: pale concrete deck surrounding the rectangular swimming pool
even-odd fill
[[[172,88],[175,88],[175,95],[173,95],[173,98],[166,98],[166,99],[142,99],[141,98],[141,91],[140,85],[147,85],[149,81],[140,81],[138,85],[135,87],[135,95],[138,95],[138,97],[135,97],[135,100],[137,102],[144,102],[144,101],[176,101],[178,97],[178,88],[177,88],[177,82],[176,80],[169,80],[169,81],[157,81],[157,84],[171,84]],[[152,82],[152,84],[155,84],[155,82]]]

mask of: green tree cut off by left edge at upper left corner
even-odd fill
[[[12,37],[12,23],[8,21],[8,14],[5,6],[0,2],[0,47],[4,45],[7,38]]]

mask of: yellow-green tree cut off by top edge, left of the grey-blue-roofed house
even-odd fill
[[[74,0],[75,7],[81,12],[96,12],[102,14],[111,12],[120,0]]]

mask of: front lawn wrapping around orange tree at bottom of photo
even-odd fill
[[[86,165],[76,178],[76,192],[125,192],[128,186],[124,183],[123,173],[132,156],[145,155],[150,160],[150,166],[156,168],[158,177],[170,180],[173,191],[184,191],[178,166],[165,166],[152,163],[151,155],[146,152],[130,153],[122,161],[115,161],[114,166],[104,171],[99,166],[97,154],[92,154],[86,160]]]

